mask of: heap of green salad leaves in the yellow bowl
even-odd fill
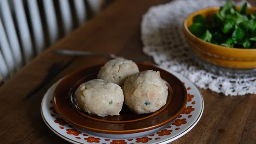
[[[189,30],[196,37],[230,48],[256,48],[256,12],[248,13],[245,2],[239,10],[227,1],[213,17],[196,15]]]

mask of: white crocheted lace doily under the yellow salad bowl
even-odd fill
[[[256,94],[256,77],[230,79],[214,75],[195,66],[188,53],[188,44],[183,35],[185,18],[192,12],[221,6],[225,2],[226,0],[175,0],[151,7],[142,19],[143,51],[152,56],[160,67],[180,73],[199,88],[232,96]]]

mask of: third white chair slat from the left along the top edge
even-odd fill
[[[44,48],[44,37],[43,37],[41,16],[39,13],[37,0],[27,0],[27,2],[28,2],[29,14],[31,17],[31,24],[33,29],[32,32],[33,32],[34,41],[35,41],[35,49],[36,49],[36,53],[40,54]]]

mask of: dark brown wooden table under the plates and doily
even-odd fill
[[[117,0],[1,86],[0,143],[68,143],[43,122],[40,114],[43,95],[66,74],[108,59],[66,57],[52,54],[52,50],[66,48],[139,57],[143,55],[139,33],[142,14],[150,6],[167,1],[170,0]],[[46,86],[33,93],[40,84]],[[190,132],[172,143],[256,142],[255,95],[230,97],[209,90],[200,91],[205,102],[201,120]]]

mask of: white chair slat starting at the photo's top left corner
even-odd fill
[[[5,32],[8,36],[9,45],[14,56],[14,61],[16,63],[16,69],[18,71],[19,69],[21,69],[23,63],[22,53],[8,0],[0,0],[0,12],[2,15],[2,22],[5,27]]]

